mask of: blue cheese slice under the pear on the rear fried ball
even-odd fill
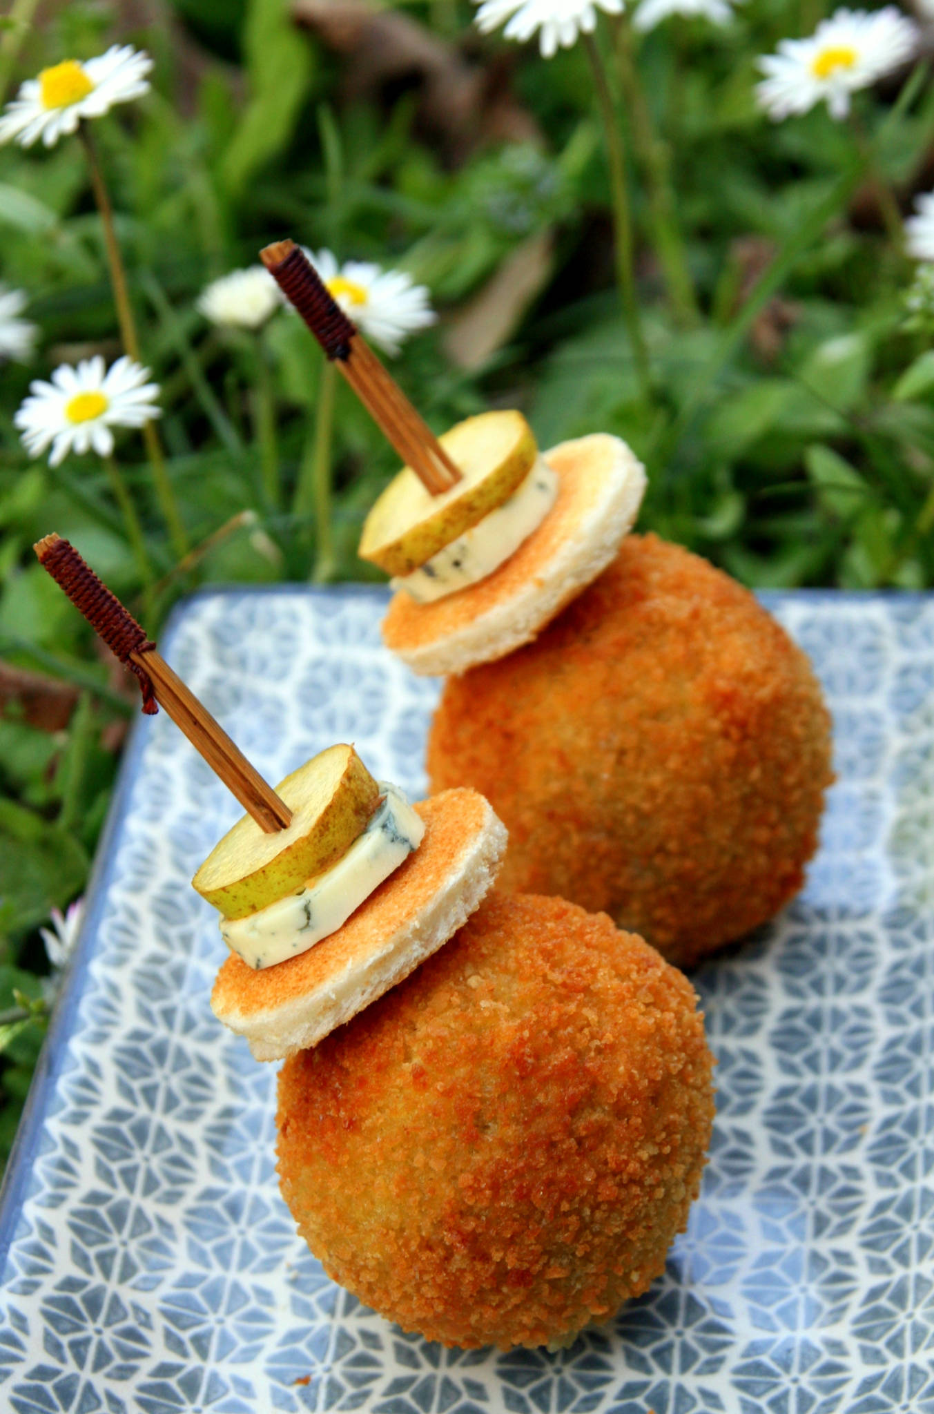
[[[431,604],[485,580],[537,530],[558,495],[558,477],[540,454],[519,489],[496,510],[445,544],[411,574],[391,580],[418,604]]]

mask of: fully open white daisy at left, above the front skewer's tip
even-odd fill
[[[109,369],[99,354],[82,359],[78,368],[62,363],[51,383],[30,383],[30,397],[13,421],[31,457],[41,457],[51,445],[49,467],[58,467],[69,451],[93,448],[99,457],[109,457],[112,427],[143,427],[160,416],[161,409],[153,406],[158,385],[147,383],[148,376],[148,368],[126,355]]]

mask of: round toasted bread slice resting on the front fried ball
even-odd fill
[[[444,790],[415,810],[421,844],[343,928],[274,967],[257,971],[236,953],[220,967],[212,1011],[257,1060],[318,1045],[437,952],[492,888],[506,827],[486,799]]]

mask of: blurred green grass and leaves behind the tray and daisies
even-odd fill
[[[441,321],[406,345],[394,372],[437,430],[485,406],[519,406],[545,447],[617,433],[650,469],[642,525],[752,585],[930,585],[934,315],[906,317],[913,269],[886,235],[851,127],[822,106],[776,126],[753,102],[756,55],[824,13],[820,0],[750,0],[723,30],[675,20],[640,42],[702,311],[674,317],[639,188],[653,368],[643,399],[613,287],[609,185],[581,45],[545,62],[534,45],[483,40],[466,0],[16,0],[0,30],[6,98],[42,66],[114,40],[157,64],[148,98],[95,126],[196,547],[174,561],[141,443],[124,437],[119,455],[161,575],[150,632],[196,585],[309,575],[312,519],[294,491],[314,437],[318,349],[287,312],[253,337],[211,328],[195,310],[206,281],[283,235],[430,287]],[[858,107],[907,211],[934,177],[927,68],[861,95]],[[627,141],[639,137],[630,120]],[[0,279],[28,291],[42,328],[32,365],[0,370],[6,1012],[40,995],[37,926],[85,887],[136,711],[133,687],[31,553],[58,530],[138,612],[103,467],[93,457],[31,464],[13,427],[31,378],[120,352],[73,139],[51,151],[0,148]],[[278,505],[263,492],[264,454],[278,464]],[[342,578],[370,574],[355,546],[393,469],[342,385]],[[41,1024],[13,1031],[0,1027],[0,1152]]]

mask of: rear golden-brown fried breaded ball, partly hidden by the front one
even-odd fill
[[[690,966],[800,889],[829,715],[747,590],[630,536],[534,643],[448,679],[428,771],[509,829],[502,888],[605,909]]]

